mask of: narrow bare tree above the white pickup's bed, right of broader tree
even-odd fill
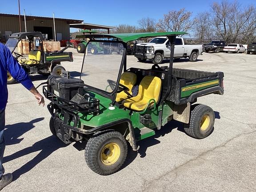
[[[199,43],[205,43],[212,39],[212,24],[209,12],[200,12],[194,18],[193,31]]]

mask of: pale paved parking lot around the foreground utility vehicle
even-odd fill
[[[69,50],[74,62],[63,66],[78,76],[83,56]],[[3,192],[256,191],[256,55],[204,53],[198,59],[180,60],[174,67],[224,72],[224,96],[198,99],[215,111],[214,132],[196,140],[184,133],[182,124],[169,123],[141,141],[139,152],[129,152],[125,167],[110,176],[87,167],[84,143],[65,145],[51,135],[50,114],[30,92],[21,84],[8,85],[4,167],[14,181]],[[132,66],[151,64],[128,56]],[[31,78],[36,86],[46,80]]]

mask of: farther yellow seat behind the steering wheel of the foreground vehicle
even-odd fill
[[[137,80],[136,74],[134,74],[132,72],[124,72],[121,75],[120,84],[129,88],[129,90],[127,92],[132,95],[132,87],[136,84],[136,80]],[[128,98],[129,98],[128,94],[125,93],[124,91],[116,94],[116,102],[120,102],[120,101],[126,100]]]

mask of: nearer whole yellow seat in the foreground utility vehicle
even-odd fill
[[[145,76],[140,82],[138,95],[124,100],[124,107],[134,111],[142,111],[147,107],[149,100],[154,99],[157,103],[160,98],[161,84],[159,77]],[[152,100],[148,107],[153,104],[154,101]]]

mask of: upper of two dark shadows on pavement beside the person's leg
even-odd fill
[[[22,136],[25,132],[28,132],[29,130],[34,128],[34,123],[37,123],[41,120],[44,120],[44,117],[31,120],[27,123],[22,122],[6,125],[4,130],[5,145],[20,143],[24,138],[19,137]]]

